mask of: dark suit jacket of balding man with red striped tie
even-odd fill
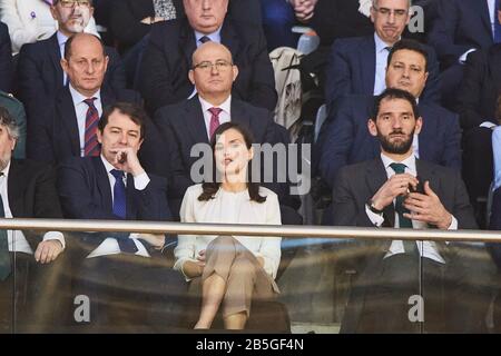
[[[102,108],[116,101],[139,102],[139,95],[131,90],[116,93],[108,87],[101,88]],[[29,121],[27,155],[35,160],[56,164],[80,156],[77,115],[68,87],[59,91],[47,111]]]

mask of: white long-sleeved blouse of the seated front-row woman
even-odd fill
[[[214,199],[199,201],[202,192],[202,185],[191,186],[186,190],[180,208],[181,222],[282,225],[278,198],[269,189],[259,188],[259,195],[266,197],[264,202],[250,200],[248,190],[230,192],[219,188]],[[174,250],[176,256],[174,269],[183,271],[185,261],[196,261],[198,253],[206,249],[216,237],[216,235],[179,235],[178,245]],[[263,257],[264,270],[273,278],[276,277],[281,261],[281,237],[235,236],[235,238],[256,257]]]

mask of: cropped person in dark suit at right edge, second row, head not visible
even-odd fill
[[[458,96],[463,129],[463,179],[475,210],[479,197],[487,197],[492,180],[492,130],[498,97],[501,95],[501,43],[468,57]],[[483,224],[483,216],[479,216]]]

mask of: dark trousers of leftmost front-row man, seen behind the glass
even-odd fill
[[[63,254],[48,265],[23,253],[11,258],[12,273],[0,281],[0,333],[61,330],[70,301]]]

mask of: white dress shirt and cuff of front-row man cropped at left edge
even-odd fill
[[[9,170],[10,170],[10,162],[2,170],[3,175],[0,176],[0,194],[2,196],[3,211],[6,212],[6,218],[11,219],[13,218],[13,216],[9,206],[9,192],[8,192]],[[33,254],[33,250],[31,249],[30,245],[28,244],[28,240],[24,237],[24,234],[22,234],[21,230],[7,230],[7,239],[9,241],[9,251],[24,253],[30,255]],[[61,243],[62,248],[66,247],[65,236],[59,231],[48,231],[43,235],[42,239],[43,241],[58,240]]]

